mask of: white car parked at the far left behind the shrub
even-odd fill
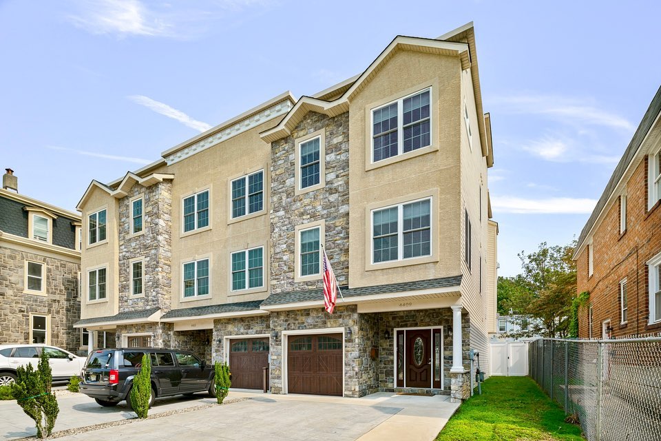
[[[85,357],[75,356],[69,351],[49,345],[0,345],[0,386],[16,380],[16,369],[28,363],[39,364],[41,351],[48,354],[48,362],[53,372],[53,381],[69,380],[81,375],[85,367]]]

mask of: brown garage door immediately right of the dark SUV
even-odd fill
[[[264,367],[269,367],[269,338],[229,340],[229,370],[232,387],[262,389]],[[266,373],[266,381],[269,374]],[[266,384],[268,387],[268,384]]]

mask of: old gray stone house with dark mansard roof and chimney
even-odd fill
[[[0,345],[45,343],[72,351],[83,335],[78,279],[81,216],[18,192],[7,169],[0,189]]]

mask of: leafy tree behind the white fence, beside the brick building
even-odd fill
[[[576,263],[571,260],[575,247],[576,240],[556,246],[543,242],[535,252],[518,254],[521,274],[499,280],[499,312],[512,309],[514,314],[537,319],[520,336],[567,336],[571,302],[576,297]]]

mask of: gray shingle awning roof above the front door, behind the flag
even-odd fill
[[[461,284],[461,276],[432,278],[430,280],[416,280],[415,282],[392,283],[390,285],[376,285],[373,287],[352,288],[340,287],[344,297],[371,296],[402,291],[417,291],[419,289],[432,289],[454,287]],[[324,289],[306,289],[304,291],[291,291],[271,294],[262,302],[262,306],[284,305],[286,303],[306,302],[311,300],[324,300]]]

